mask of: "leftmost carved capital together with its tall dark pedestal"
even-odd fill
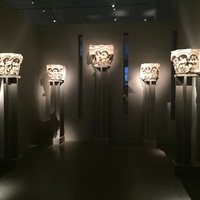
[[[6,165],[14,165],[18,157],[18,76],[23,57],[0,54],[0,138],[1,154]]]

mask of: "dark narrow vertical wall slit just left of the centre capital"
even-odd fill
[[[83,36],[78,35],[78,118],[83,118]]]

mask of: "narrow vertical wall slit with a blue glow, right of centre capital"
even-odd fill
[[[123,116],[128,119],[128,33],[123,34]]]

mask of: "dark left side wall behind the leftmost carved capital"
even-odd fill
[[[35,143],[38,134],[38,27],[0,1],[0,52],[20,53],[18,84],[19,151]],[[0,131],[2,151],[3,131]]]

